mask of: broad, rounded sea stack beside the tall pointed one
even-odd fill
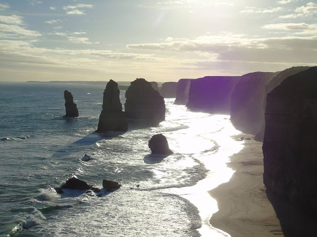
[[[139,78],[131,82],[125,92],[126,102],[124,105],[127,118],[165,119],[164,98],[145,79]]]

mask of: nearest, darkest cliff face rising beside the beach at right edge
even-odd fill
[[[264,185],[317,213],[317,67],[292,75],[267,95]]]

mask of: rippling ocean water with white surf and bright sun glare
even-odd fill
[[[106,86],[106,83],[105,83]],[[217,211],[207,193],[233,171],[228,157],[242,148],[228,116],[194,113],[165,99],[159,124],[129,120],[126,133],[97,134],[99,85],[0,83],[0,236],[228,236],[209,224]],[[65,114],[63,91],[78,118]],[[124,92],[120,100],[124,104]],[[150,138],[166,136],[174,154],[150,155]],[[87,154],[91,160],[81,160]],[[75,176],[94,187],[117,180],[114,192],[66,191]]]

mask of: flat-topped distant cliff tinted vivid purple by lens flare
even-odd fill
[[[194,111],[229,115],[231,94],[240,77],[191,80],[187,107]]]

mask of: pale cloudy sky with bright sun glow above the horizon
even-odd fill
[[[317,65],[312,0],[0,0],[0,80],[178,81]]]

